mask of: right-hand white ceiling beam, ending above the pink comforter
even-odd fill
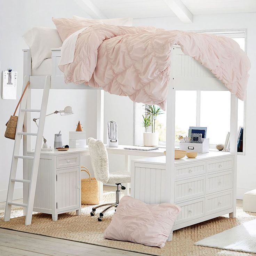
[[[183,23],[193,23],[193,14],[181,0],[164,0],[164,2]]]

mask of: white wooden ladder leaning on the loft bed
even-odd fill
[[[29,76],[25,76],[22,91],[24,91],[24,88],[28,81],[29,81]],[[11,171],[10,171],[7,200],[6,200],[6,206],[5,206],[5,217],[3,219],[4,221],[10,220],[11,206],[16,205],[16,206],[26,207],[25,225],[31,224],[34,198],[35,198],[35,187],[37,184],[38,167],[39,167],[40,152],[41,152],[41,145],[42,145],[42,138],[43,138],[43,128],[45,126],[45,117],[46,117],[47,103],[48,103],[48,98],[49,98],[49,90],[50,90],[50,76],[46,76],[45,87],[43,89],[43,97],[42,97],[42,103],[41,103],[40,110],[26,109],[27,91],[28,90],[26,90],[26,92],[21,100],[21,104],[19,106],[18,123],[17,123],[17,128],[16,128],[16,136],[15,136],[14,149],[13,149],[13,158],[11,161]],[[25,112],[40,112],[38,131],[36,134],[22,132]],[[34,157],[27,156],[26,152],[25,152],[25,155],[24,155],[24,152],[23,152],[23,155],[19,155],[19,148],[21,145],[21,136],[22,135],[23,136],[37,136],[36,143],[35,143]],[[23,159],[23,161],[27,160],[27,159],[33,160],[33,166],[32,166],[30,180],[29,179],[16,179],[17,164],[18,164],[19,158]],[[13,202],[13,193],[14,193],[15,182],[22,182],[22,183],[29,184],[29,198],[28,198],[27,204]]]

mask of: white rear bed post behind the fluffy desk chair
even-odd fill
[[[97,139],[104,136],[104,90],[97,90]],[[103,183],[99,182],[99,201],[103,200]]]

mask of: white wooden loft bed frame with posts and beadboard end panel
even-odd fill
[[[104,105],[104,91],[98,88],[92,88],[85,84],[65,84],[64,74],[58,69],[58,62],[61,57],[60,49],[52,49],[51,58],[51,73],[47,76],[44,75],[31,75],[31,54],[30,50],[24,51],[24,83],[30,81],[28,91],[27,109],[30,109],[30,89],[43,89],[46,79],[50,79],[50,89],[97,89],[97,138],[103,140],[103,105]],[[49,63],[49,60],[48,60]],[[166,166],[163,173],[161,187],[165,187],[162,190],[161,202],[175,202],[175,170],[177,166],[176,160],[174,160],[174,145],[175,145],[175,91],[176,90],[228,90],[223,83],[218,80],[207,68],[203,67],[199,62],[195,61],[192,57],[184,55],[179,46],[174,45],[171,55],[171,70],[169,90],[167,97],[167,138],[166,138]],[[179,222],[176,225],[177,228],[181,228],[187,225],[192,225],[206,219],[221,216],[223,214],[230,214],[230,217],[235,217],[236,211],[236,177],[237,177],[237,107],[238,99],[235,95],[231,94],[231,141],[230,141],[230,153],[225,152],[225,156],[230,155],[232,158],[232,188],[229,189],[232,194],[232,203],[228,209],[215,211],[215,214],[197,218],[192,222]],[[30,113],[25,114],[24,119],[24,131],[30,131]],[[29,136],[23,136],[23,154],[26,155],[28,151],[31,151]],[[221,153],[220,153],[221,154]],[[220,155],[221,157],[221,155]],[[207,157],[211,159],[211,157]],[[216,159],[216,155],[213,157]],[[23,174],[26,175],[27,161],[23,161]],[[186,179],[186,177],[184,177]],[[133,181],[132,181],[133,182]],[[133,188],[133,184],[131,184]],[[164,193],[163,193],[164,191]],[[133,192],[131,193],[133,194]],[[26,192],[24,190],[24,197]],[[197,197],[195,197],[197,198]],[[191,199],[190,199],[191,200]]]

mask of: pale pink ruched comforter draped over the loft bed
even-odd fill
[[[79,35],[73,62],[59,67],[66,83],[101,87],[165,110],[174,44],[207,67],[231,93],[245,98],[250,61],[237,42],[213,34],[93,25]]]

